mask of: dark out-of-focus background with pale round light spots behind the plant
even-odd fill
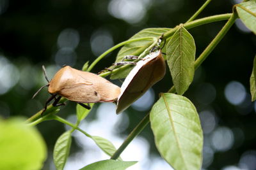
[[[186,22],[204,1],[189,0],[0,0],[0,116],[31,117],[49,97],[44,89],[31,96],[63,64],[81,69],[84,62],[129,39],[148,27],[175,27]],[[239,1],[212,1],[199,17],[232,12]],[[195,38],[196,57],[225,24],[202,25],[189,32]],[[256,114],[250,101],[250,74],[256,38],[240,20],[208,59],[196,71],[195,81],[184,96],[196,106],[204,129],[204,169],[256,169]],[[93,73],[114,62],[117,51],[97,64]],[[113,81],[121,85],[120,81]],[[118,147],[157,100],[159,92],[170,89],[167,72],[121,115],[115,105],[95,104],[81,124],[84,131],[113,141]],[[76,104],[68,102],[60,116],[75,122]],[[49,157],[44,169],[54,169],[52,150],[63,124],[49,121],[38,125],[45,138]],[[171,169],[159,158],[150,126],[134,139],[122,155],[124,160],[139,160],[131,169]],[[97,146],[79,132],[74,133],[67,169],[78,169],[97,160],[108,159]]]

